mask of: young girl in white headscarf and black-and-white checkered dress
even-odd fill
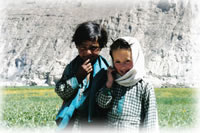
[[[158,129],[153,87],[144,81],[144,56],[139,42],[122,37],[110,46],[114,68],[107,71],[107,82],[97,95],[97,103],[107,108],[108,127],[139,131]],[[156,130],[158,131],[158,130]]]

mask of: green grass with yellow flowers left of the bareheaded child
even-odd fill
[[[62,101],[52,88],[16,87],[3,91],[3,120],[7,127],[56,126]]]

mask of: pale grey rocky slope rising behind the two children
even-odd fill
[[[54,85],[77,55],[71,37],[93,20],[111,38],[136,37],[156,87],[199,87],[199,4],[181,0],[20,1],[2,9],[1,85]],[[108,56],[108,48],[101,54]],[[110,58],[108,58],[110,61]]]

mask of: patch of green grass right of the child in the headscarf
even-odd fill
[[[197,96],[191,88],[156,88],[160,127],[193,127],[196,122]]]

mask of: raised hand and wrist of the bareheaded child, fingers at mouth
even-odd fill
[[[87,59],[80,67],[78,72],[76,73],[76,78],[79,83],[91,72],[93,71],[92,64],[90,63],[90,59]]]

